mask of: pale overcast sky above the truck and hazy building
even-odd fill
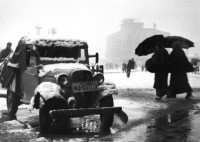
[[[106,36],[123,18],[193,40],[200,49],[200,0],[0,0],[0,48],[13,48],[23,36],[56,28],[59,35],[84,39],[91,52],[103,54]],[[103,55],[104,56],[104,55]]]

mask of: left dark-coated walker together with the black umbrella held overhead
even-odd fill
[[[165,49],[165,38],[163,35],[154,35],[146,38],[135,49],[138,56],[146,56],[154,53],[145,63],[146,69],[155,73],[153,88],[156,89],[156,100],[161,100],[163,96],[169,96],[168,89],[168,64],[169,54]]]

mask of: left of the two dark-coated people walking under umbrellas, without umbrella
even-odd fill
[[[155,63],[154,88],[156,100],[161,100],[164,95],[169,95],[168,89],[168,64],[169,54],[162,46],[157,46],[152,61]]]

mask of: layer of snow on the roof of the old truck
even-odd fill
[[[52,44],[54,46],[60,47],[87,47],[87,42],[78,39],[65,39],[61,37],[50,37],[50,36],[24,36],[21,38],[26,44],[36,44],[38,46],[50,47]]]

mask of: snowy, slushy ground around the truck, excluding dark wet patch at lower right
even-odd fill
[[[164,98],[161,102],[155,102],[155,91],[152,89],[154,75],[148,72],[133,71],[130,78],[127,78],[124,73],[111,73],[105,74],[105,79],[107,82],[114,82],[118,88],[119,95],[114,96],[114,103],[115,106],[122,106],[128,114],[129,122],[126,125],[115,116],[111,133],[103,134],[99,131],[98,121],[96,122],[98,117],[95,116],[74,121],[81,124],[82,128],[84,127],[84,129],[81,128],[82,130],[43,137],[38,132],[37,110],[30,114],[25,109],[25,105],[20,106],[16,116],[17,121],[8,121],[6,99],[0,98],[0,141],[13,139],[15,141],[30,139],[32,141],[145,141],[146,139],[141,138],[141,135],[146,134],[146,128],[152,125],[151,121],[155,118],[172,113],[179,108],[190,111],[190,114],[199,110],[200,74],[189,74],[189,82],[194,88],[195,96],[195,99],[190,101],[185,101],[185,95],[182,94],[174,100]],[[193,109],[194,106],[197,107]],[[74,126],[76,127],[77,124],[74,123]],[[80,127],[77,128],[80,129]],[[5,136],[10,138],[6,139]]]

